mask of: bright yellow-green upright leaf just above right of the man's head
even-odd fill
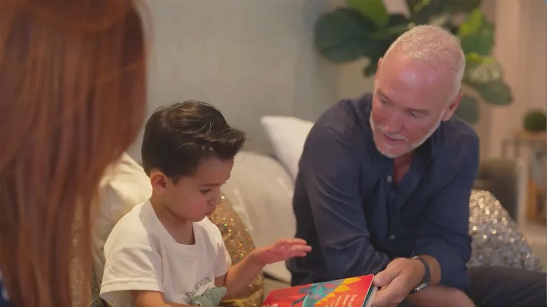
[[[465,54],[490,55],[494,44],[494,24],[479,9],[473,10],[459,26],[458,37]]]

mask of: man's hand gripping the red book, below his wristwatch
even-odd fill
[[[397,306],[423,280],[424,274],[425,269],[419,260],[393,260],[385,270],[374,276],[373,285],[380,287],[380,291],[376,293],[372,307]]]

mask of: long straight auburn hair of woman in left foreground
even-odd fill
[[[70,259],[89,280],[97,185],[141,126],[144,56],[132,1],[0,1],[2,307],[86,298]]]

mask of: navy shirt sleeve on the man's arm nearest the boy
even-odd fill
[[[330,279],[376,274],[389,263],[371,245],[360,165],[343,137],[326,128],[312,131],[299,166]]]

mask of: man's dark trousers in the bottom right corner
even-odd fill
[[[477,307],[545,307],[547,275],[522,269],[469,268],[468,296]],[[412,307],[403,302],[398,307]]]

